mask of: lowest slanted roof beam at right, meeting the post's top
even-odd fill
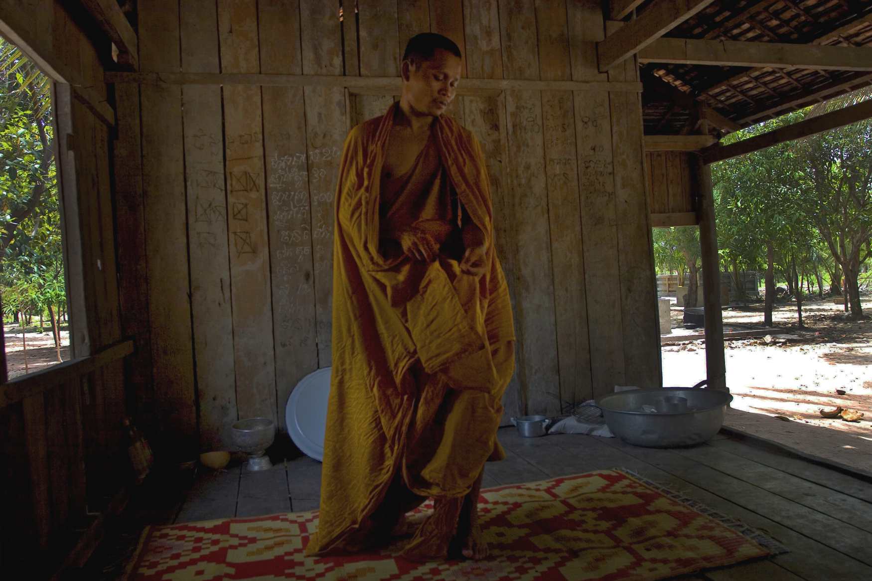
[[[817,117],[794,123],[793,125],[780,127],[774,131],[737,141],[728,146],[706,147],[701,153],[706,164],[729,160],[739,155],[750,154],[764,147],[771,147],[785,141],[798,140],[815,133],[846,126],[856,121],[867,120],[870,117],[872,117],[872,99],[866,99],[856,105],[824,113]]]

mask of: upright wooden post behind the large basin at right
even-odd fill
[[[699,193],[699,244],[702,247],[705,288],[705,370],[710,389],[729,391],[724,360],[724,321],[720,311],[720,265],[718,234],[714,223],[712,168],[705,165],[698,155],[693,155],[693,164],[693,181]]]

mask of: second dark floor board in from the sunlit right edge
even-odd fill
[[[814,482],[789,475],[777,468],[771,468],[743,456],[729,454],[712,446],[687,448],[678,453],[782,498],[832,516],[842,523],[848,523],[866,532],[872,531],[872,504],[869,502],[843,495]]]

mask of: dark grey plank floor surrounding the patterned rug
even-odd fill
[[[507,458],[487,463],[484,488],[625,468],[739,518],[790,550],[770,560],[705,571],[684,579],[872,578],[869,532],[828,516],[834,512],[847,518],[848,511],[856,509],[865,526],[869,503],[850,494],[862,490],[846,480],[848,476],[833,472],[838,476],[834,484],[826,468],[810,464],[811,468],[803,467],[797,463],[800,460],[780,458],[770,452],[761,455],[759,448],[729,440],[677,452],[636,448],[616,439],[576,434],[521,438],[514,427],[501,429],[498,437]],[[201,474],[188,492],[176,522],[317,509],[320,462],[303,456],[286,461],[284,466],[262,473],[247,473],[237,466]],[[824,502],[830,502],[833,509],[825,510]]]

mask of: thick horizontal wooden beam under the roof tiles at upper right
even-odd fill
[[[660,38],[639,51],[639,62],[872,71],[872,47]]]

